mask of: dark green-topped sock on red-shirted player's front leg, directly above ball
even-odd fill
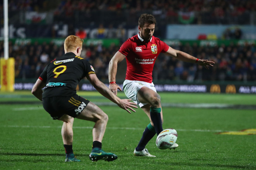
[[[156,129],[156,134],[158,135],[163,131],[162,120],[161,120],[161,108],[150,108],[150,117]]]

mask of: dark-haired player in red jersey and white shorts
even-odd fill
[[[135,156],[150,156],[146,144],[155,134],[162,130],[163,112],[161,108],[160,96],[157,94],[152,82],[152,71],[157,56],[165,53],[168,56],[175,57],[178,60],[197,63],[209,69],[213,66],[213,61],[197,59],[187,53],[175,50],[166,43],[153,36],[155,31],[156,19],[153,15],[142,14],[138,20],[137,35],[126,40],[120,49],[116,52],[109,63],[109,88],[117,95],[117,89],[122,89],[115,83],[117,65],[124,58],[126,59],[127,69],[126,77],[123,83],[125,95],[138,104],[150,119],[150,124],[145,128],[138,146],[134,149]],[[178,147],[174,143],[169,149]]]

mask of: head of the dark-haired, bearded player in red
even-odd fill
[[[150,41],[155,31],[156,19],[151,14],[142,14],[138,21],[140,36],[145,41]]]

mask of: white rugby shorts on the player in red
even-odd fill
[[[138,104],[140,107],[146,105],[147,103],[141,103],[139,102],[137,98],[137,93],[142,87],[148,87],[156,92],[156,88],[154,86],[154,83],[147,83],[143,81],[134,81],[134,80],[125,80],[123,83],[123,90],[124,94],[129,98],[132,99],[132,101],[136,104]]]

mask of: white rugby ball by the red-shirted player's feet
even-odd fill
[[[168,149],[176,142],[177,137],[178,133],[175,129],[165,129],[157,136],[156,146],[159,149]]]

